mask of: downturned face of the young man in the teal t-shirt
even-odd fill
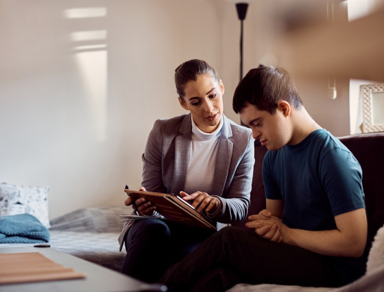
[[[240,118],[244,124],[250,126],[254,139],[258,139],[268,150],[278,150],[289,142],[291,131],[287,115],[279,107],[271,115],[247,103],[240,113]]]

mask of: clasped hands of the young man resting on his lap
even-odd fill
[[[254,232],[260,237],[276,243],[283,241],[281,233],[283,223],[268,210],[262,210],[259,214],[249,216],[248,219],[250,221],[245,223],[245,226],[254,228]]]

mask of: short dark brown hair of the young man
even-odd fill
[[[233,96],[233,110],[241,113],[245,103],[254,104],[259,111],[274,114],[280,100],[296,109],[302,100],[288,71],[283,68],[259,66],[251,69],[240,81]]]

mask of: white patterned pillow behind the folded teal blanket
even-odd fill
[[[0,183],[0,216],[31,214],[47,228],[48,217],[47,186],[16,186]]]

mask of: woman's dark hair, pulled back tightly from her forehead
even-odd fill
[[[197,76],[201,74],[210,74],[216,81],[219,81],[219,74],[216,69],[206,63],[204,60],[189,60],[182,63],[175,70],[176,91],[182,100],[184,100],[184,88],[187,82],[197,80]]]

